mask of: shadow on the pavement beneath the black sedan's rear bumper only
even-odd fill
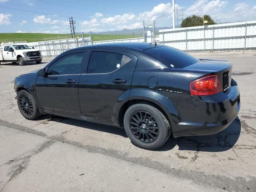
[[[179,150],[205,151],[205,152],[220,152],[232,148],[241,132],[241,123],[238,116],[236,119],[223,131],[218,134],[208,136],[188,136],[174,138],[170,136],[168,141],[158,149],[158,151],[172,150],[178,145]]]

